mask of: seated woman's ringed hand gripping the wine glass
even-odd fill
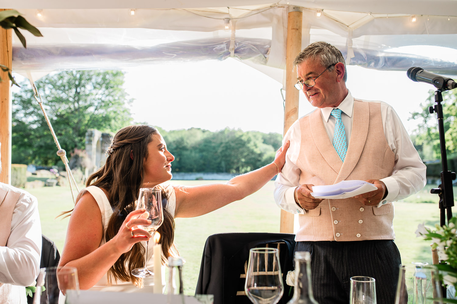
[[[148,216],[145,209],[134,210],[127,215],[116,236],[112,238],[120,254],[130,251],[135,243],[149,241],[151,235],[142,228],[143,225],[151,224]]]

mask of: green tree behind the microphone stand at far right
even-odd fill
[[[430,96],[420,104],[422,111],[412,113],[411,119],[418,119],[419,124],[412,136],[413,143],[423,160],[436,160],[441,158],[438,120],[436,113],[430,114],[429,107],[435,106],[435,91],[429,91]],[[443,125],[446,138],[446,154],[448,158],[457,156],[457,92],[446,91],[442,93]]]

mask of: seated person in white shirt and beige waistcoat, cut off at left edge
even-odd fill
[[[0,183],[0,304],[27,304],[25,287],[38,276],[41,241],[37,199]]]

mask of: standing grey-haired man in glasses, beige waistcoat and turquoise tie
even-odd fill
[[[298,213],[296,251],[311,252],[319,304],[346,304],[351,276],[376,279],[377,303],[393,303],[399,251],[393,242],[393,201],[425,185],[425,165],[387,103],[353,98],[341,52],[315,42],[295,58],[298,82],[316,109],[298,119],[275,200]],[[316,199],[313,185],[366,180],[377,190],[346,199]]]

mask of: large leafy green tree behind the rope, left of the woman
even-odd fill
[[[122,88],[121,71],[69,71],[36,82],[43,107],[67,155],[85,149],[87,129],[115,132],[132,123],[133,101]],[[12,162],[55,165],[60,161],[43,112],[32,88],[22,84],[13,95]]]

